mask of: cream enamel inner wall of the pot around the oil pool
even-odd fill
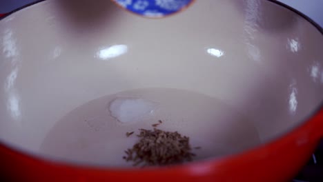
[[[0,21],[0,141],[56,159],[41,143],[80,105],[125,90],[177,88],[223,101],[265,143],[322,103],[322,48],[317,28],[269,1],[196,1],[164,19],[108,0],[43,1]],[[82,160],[91,162],[71,161]]]

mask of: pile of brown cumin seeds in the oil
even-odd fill
[[[139,141],[133,148],[126,150],[124,156],[126,161],[133,162],[135,166],[173,165],[192,161],[195,156],[191,152],[188,136],[157,128],[139,129],[139,132]]]

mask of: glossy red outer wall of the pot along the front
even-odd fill
[[[10,181],[288,181],[323,134],[323,110],[280,139],[242,154],[171,168],[117,170],[53,163],[0,146],[1,176]]]

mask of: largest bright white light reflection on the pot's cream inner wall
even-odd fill
[[[101,48],[95,57],[101,59],[101,60],[107,60],[114,57],[119,57],[122,54],[126,54],[128,52],[128,46],[127,45],[112,45],[108,48]]]

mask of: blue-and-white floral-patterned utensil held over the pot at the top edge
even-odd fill
[[[188,6],[193,0],[113,0],[144,17],[164,17]]]

